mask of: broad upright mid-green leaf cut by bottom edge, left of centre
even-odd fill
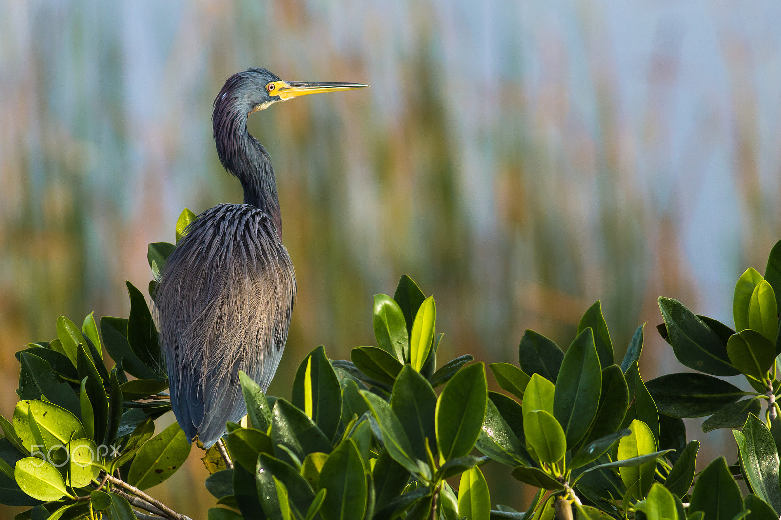
[[[326,459],[319,489],[326,490],[320,516],[323,520],[361,520],[366,510],[365,469],[358,447],[346,439]]]

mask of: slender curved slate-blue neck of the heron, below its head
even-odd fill
[[[263,145],[247,130],[250,108],[236,109],[230,100],[217,98],[213,126],[217,155],[223,167],[241,182],[244,204],[253,205],[269,215],[282,240],[282,214],[276,194],[276,178],[271,157]],[[220,103],[225,101],[226,103]]]

